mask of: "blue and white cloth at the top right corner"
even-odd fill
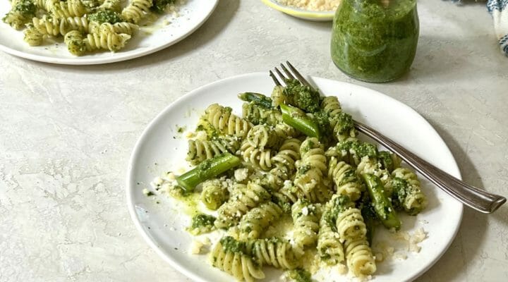
[[[488,0],[487,8],[494,19],[494,31],[501,51],[508,56],[508,0]]]

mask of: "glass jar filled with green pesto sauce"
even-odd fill
[[[342,0],[333,22],[332,60],[358,80],[394,80],[409,71],[418,33],[416,0]]]

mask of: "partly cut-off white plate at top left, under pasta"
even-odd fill
[[[0,3],[0,18],[3,18],[11,9],[11,4],[7,0],[0,0]],[[160,16],[153,25],[141,27],[141,30],[133,35],[121,51],[116,53],[101,51],[85,56],[70,54],[63,39],[57,42],[58,45],[30,47],[23,41],[23,31],[14,30],[0,21],[0,50],[25,59],[66,65],[95,65],[126,61],[152,54],[191,35],[202,23],[205,23],[217,3],[219,3],[218,0],[187,0],[186,4],[180,7],[179,17]],[[167,25],[164,20],[170,20],[171,23]]]

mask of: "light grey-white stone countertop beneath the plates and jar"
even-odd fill
[[[289,59],[303,73],[353,82],[416,109],[467,183],[508,195],[508,58],[485,4],[419,1],[411,72],[369,84],[329,57],[331,23],[260,1],[222,0],[179,44],[131,61],[58,66],[0,52],[0,281],[190,281],[135,230],[125,199],[142,130],[186,92]],[[444,256],[418,281],[506,281],[508,206],[465,209]]]

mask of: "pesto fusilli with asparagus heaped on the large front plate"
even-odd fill
[[[114,25],[104,29],[116,32]],[[295,279],[320,268],[375,275],[375,228],[397,233],[397,211],[416,215],[427,205],[416,173],[358,139],[337,97],[291,80],[270,97],[238,97],[241,116],[220,104],[205,109],[195,133],[186,135],[186,161],[195,168],[169,181],[176,200],[198,196],[188,232],[221,238],[210,252],[212,266],[237,281],[264,278],[265,266]],[[190,185],[193,177],[198,181]]]

